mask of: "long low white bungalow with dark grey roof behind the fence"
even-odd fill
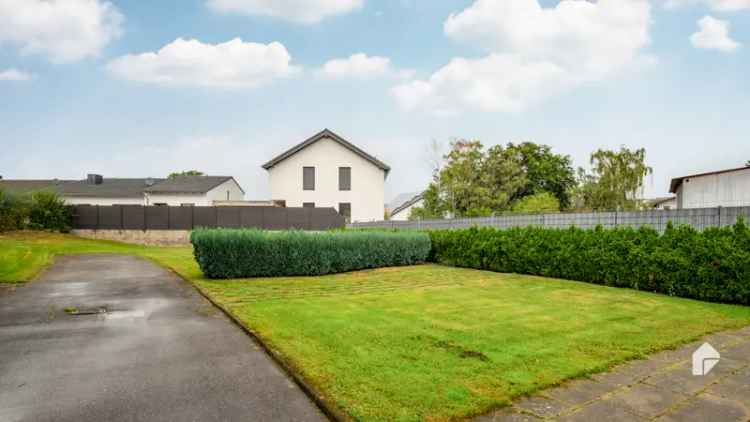
[[[245,196],[231,176],[178,176],[172,179],[107,178],[90,174],[84,180],[2,180],[0,188],[30,192],[54,190],[71,205],[209,206]]]

